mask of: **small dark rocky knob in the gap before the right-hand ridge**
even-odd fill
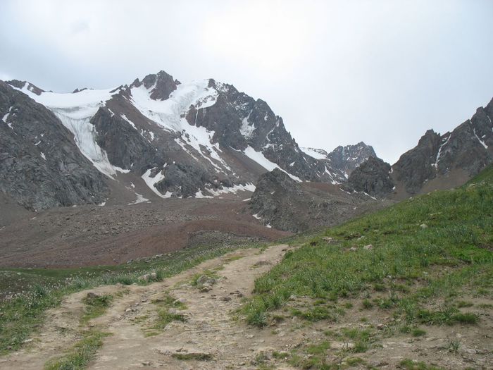
[[[366,192],[372,197],[386,197],[394,190],[394,180],[390,171],[389,164],[370,156],[349,175],[347,186],[356,192]]]

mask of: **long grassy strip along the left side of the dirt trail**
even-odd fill
[[[87,269],[4,269],[9,273],[15,271],[16,276],[30,276],[31,285],[26,285],[23,292],[17,292],[0,302],[0,355],[18,350],[24,340],[42,325],[46,309],[58,306],[68,294],[116,283],[145,285],[147,282],[139,279],[145,273],[155,271],[156,280],[161,280],[191,269],[207,259],[247,247],[261,245],[183,249],[166,257],[148,259],[149,263],[142,260],[132,264]]]

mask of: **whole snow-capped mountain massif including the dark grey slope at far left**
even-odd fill
[[[235,194],[253,191],[258,175],[274,168],[296,181],[345,180],[330,161],[301,151],[265,101],[212,79],[181,83],[161,71],[130,85],[63,94],[18,80],[0,84],[8,159],[1,172],[18,175],[0,186],[27,208]],[[28,157],[20,155],[27,148]],[[61,148],[73,158],[68,168]],[[82,178],[76,165],[87,172]],[[44,175],[29,178],[28,168]],[[66,188],[60,168],[84,194],[58,195]]]

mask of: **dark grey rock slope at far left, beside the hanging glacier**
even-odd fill
[[[104,175],[41,104],[0,81],[0,190],[27,209],[100,203]]]

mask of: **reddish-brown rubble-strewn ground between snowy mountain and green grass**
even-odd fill
[[[239,198],[160,200],[13,213],[0,226],[0,266],[122,264],[185,247],[289,235],[261,225]]]

